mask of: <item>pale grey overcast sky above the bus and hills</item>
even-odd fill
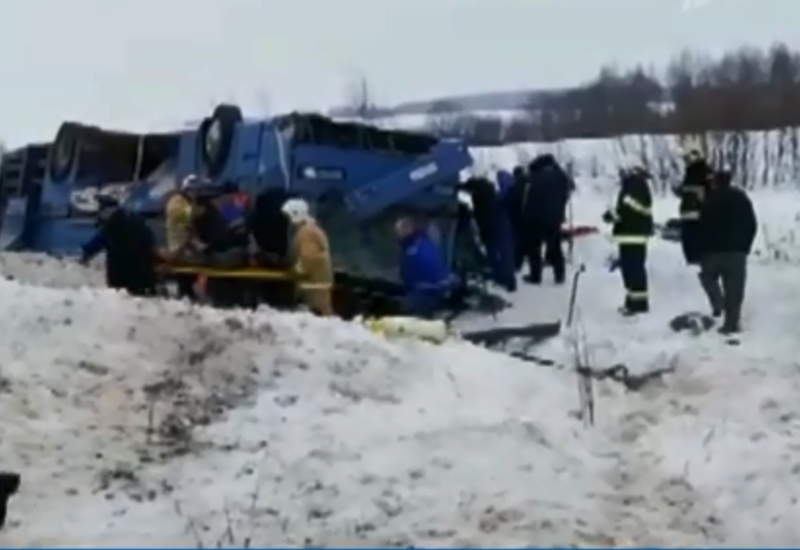
[[[695,0],[697,2],[697,0]],[[5,0],[0,136],[64,119],[144,129],[324,109],[363,75],[383,103],[566,86],[604,62],[785,40],[797,0]],[[794,39],[792,37],[795,37]]]

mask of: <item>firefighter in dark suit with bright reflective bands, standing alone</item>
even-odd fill
[[[612,235],[618,246],[618,267],[625,285],[625,302],[620,308],[623,315],[650,310],[647,243],[653,234],[653,198],[649,179],[650,174],[640,165],[623,166],[616,207],[603,215],[603,221],[614,224]]]

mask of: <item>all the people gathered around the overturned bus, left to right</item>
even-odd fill
[[[747,256],[757,221],[746,193],[731,185],[731,173],[711,168],[697,149],[684,155],[680,197],[681,244],[686,262],[699,265],[699,280],[711,313],[723,317],[720,331],[741,328],[747,279]],[[621,312],[638,315],[650,309],[647,274],[648,241],[654,233],[650,174],[636,163],[620,169],[616,204],[603,216],[613,225],[617,265],[625,299]],[[225,187],[225,186],[223,186]],[[566,276],[563,224],[575,186],[552,155],[536,157],[527,167],[499,171],[496,181],[473,177],[461,191],[470,198],[463,218],[474,226],[493,279],[513,292],[517,272],[527,261],[523,280],[542,283],[546,264],[556,284]],[[106,252],[108,285],[134,295],[156,293],[159,262],[242,267],[254,254],[259,265],[288,269],[292,277],[287,302],[299,296],[309,309],[333,315],[333,268],[328,237],[302,199],[283,190],[268,190],[249,204],[247,195],[229,185],[208,186],[190,176],[166,203],[166,246],[156,245],[147,223],[116,201],[101,198],[99,230],[83,247],[82,261]],[[440,245],[419,220],[401,217],[395,224],[399,243],[402,312],[429,317],[446,309],[460,281]],[[287,263],[288,262],[288,263]],[[290,265],[291,264],[291,265]],[[179,294],[194,298],[205,290],[202,277],[179,275]],[[216,296],[236,294],[241,281],[214,279]],[[218,288],[217,288],[218,287]],[[276,285],[270,285],[276,288]],[[272,296],[273,302],[276,298]],[[223,300],[224,301],[224,300]]]

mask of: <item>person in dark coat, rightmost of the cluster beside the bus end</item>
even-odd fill
[[[567,203],[573,184],[553,155],[540,155],[531,162],[528,184],[522,198],[522,245],[530,273],[526,280],[542,282],[542,246],[553,268],[555,281],[566,277],[566,261],[561,248],[561,226],[566,219]]]

